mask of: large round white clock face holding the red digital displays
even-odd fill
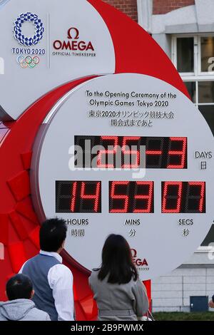
[[[73,89],[44,120],[32,170],[40,219],[66,220],[66,252],[90,270],[115,233],[141,279],[158,277],[188,259],[213,222],[213,135],[157,78],[123,73]]]

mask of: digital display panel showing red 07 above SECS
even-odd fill
[[[162,182],[162,213],[205,213],[205,182]]]

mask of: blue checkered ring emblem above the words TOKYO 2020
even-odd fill
[[[25,22],[31,22],[34,24],[35,27],[35,33],[34,36],[28,38],[24,36],[22,33],[22,24]],[[32,14],[32,13],[25,13],[21,14],[16,21],[14,22],[14,37],[16,40],[24,45],[24,46],[35,46],[39,41],[41,41],[41,38],[43,38],[44,34],[44,24],[42,23],[41,19],[39,19],[38,15]]]

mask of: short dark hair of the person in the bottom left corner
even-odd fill
[[[31,299],[33,284],[25,274],[16,274],[6,283],[6,295],[8,299]]]

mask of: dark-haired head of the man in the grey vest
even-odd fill
[[[67,225],[62,219],[46,220],[40,228],[39,239],[41,250],[57,252],[66,239]]]

